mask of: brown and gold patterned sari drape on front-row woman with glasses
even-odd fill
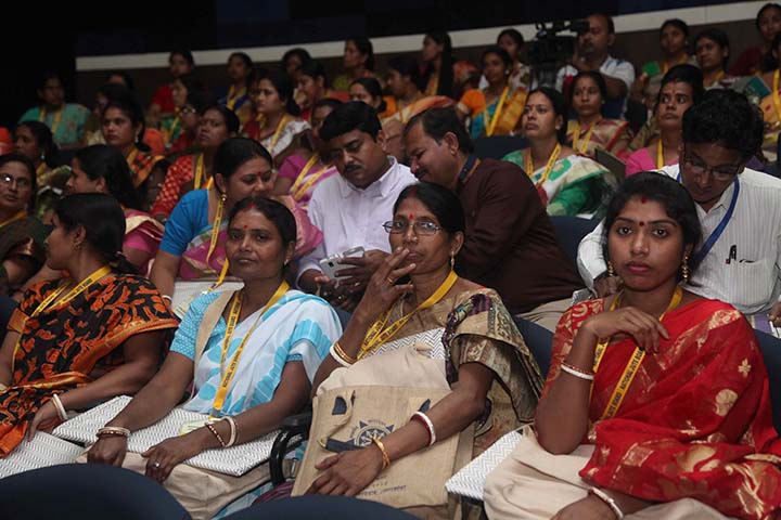
[[[401,317],[401,299],[388,317]],[[495,375],[486,410],[475,430],[473,456],[510,430],[530,421],[542,378],[512,316],[494,289],[468,290],[415,312],[392,340],[445,328],[446,374],[452,386],[464,363],[479,363]],[[390,369],[390,368],[389,368]]]

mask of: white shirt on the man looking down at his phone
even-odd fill
[[[393,219],[393,206],[399,193],[418,180],[394,157],[388,160],[390,168],[363,190],[347,182],[342,174],[317,185],[308,212],[312,224],[322,231],[323,239],[302,259],[298,276],[309,269],[322,272],[318,263],[321,259],[357,246],[367,251],[390,252],[388,234],[382,224]]]

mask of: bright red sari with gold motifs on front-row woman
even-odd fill
[[[562,316],[546,390],[579,326],[602,310],[594,300]],[[679,307],[663,323],[673,339],[645,355],[616,415],[598,420],[635,351],[628,338],[607,347],[589,410],[596,448],[580,477],[646,500],[690,497],[724,515],[767,518],[781,507],[781,443],[754,332],[716,300]]]

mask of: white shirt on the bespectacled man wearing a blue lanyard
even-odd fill
[[[678,165],[660,170],[674,179]],[[744,314],[766,313],[781,295],[781,180],[748,168],[738,177],[740,192],[732,218],[705,256],[687,289],[732,304]],[[703,242],[718,226],[732,200],[732,183],[709,211],[696,205]],[[737,259],[727,263],[734,246]],[[602,224],[578,248],[578,271],[593,287],[606,266],[602,258]]]

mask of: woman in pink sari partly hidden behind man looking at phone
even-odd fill
[[[282,162],[274,184],[274,195],[287,195],[293,197],[296,204],[306,209],[309,205],[315,188],[322,181],[331,176],[337,174],[338,170],[325,157],[328,148],[320,139],[320,128],[325,118],[342,102],[331,98],[323,98],[312,105],[311,108],[311,134],[309,143],[311,151],[302,148],[295,154],[289,155]]]

